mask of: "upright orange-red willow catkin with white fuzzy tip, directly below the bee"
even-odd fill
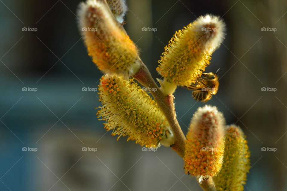
[[[216,107],[199,107],[191,119],[185,146],[185,173],[204,178],[216,175],[224,154],[223,114]]]

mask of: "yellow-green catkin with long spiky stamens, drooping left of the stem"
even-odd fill
[[[144,89],[144,88],[143,88]],[[146,147],[173,144],[168,122],[154,100],[132,79],[104,75],[99,85],[102,107],[97,115],[112,135],[128,136]]]

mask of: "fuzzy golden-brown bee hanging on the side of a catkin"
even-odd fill
[[[207,102],[218,91],[219,82],[218,72],[222,70],[218,69],[215,74],[213,72],[202,73],[201,77],[197,78],[195,83],[186,86],[187,89],[193,90],[192,97],[196,101]]]

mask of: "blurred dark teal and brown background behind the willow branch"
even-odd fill
[[[97,92],[82,88],[97,88],[102,74],[77,28],[79,3],[0,2],[0,190],[201,190],[194,178],[184,175],[183,160],[170,148],[142,151],[125,137],[116,141],[97,120]],[[252,167],[245,190],[287,190],[287,1],[127,4],[124,27],[154,78],[175,31],[206,13],[222,16],[226,39],[206,71],[223,71],[219,92],[208,104],[246,134]],[[276,91],[262,91],[264,87]],[[191,91],[176,90],[184,134],[203,105],[193,100]]]

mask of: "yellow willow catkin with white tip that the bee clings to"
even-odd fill
[[[175,32],[158,61],[158,73],[169,83],[189,86],[200,77],[224,37],[225,23],[218,16],[200,16]]]

